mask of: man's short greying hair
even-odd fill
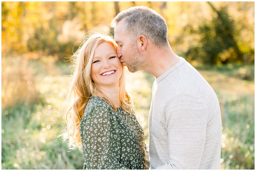
[[[123,32],[136,41],[139,35],[150,39],[157,47],[169,46],[167,40],[168,27],[164,18],[155,10],[145,6],[128,8],[112,20],[111,27],[124,20]]]

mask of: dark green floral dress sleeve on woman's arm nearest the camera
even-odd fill
[[[94,106],[82,123],[81,136],[87,169],[128,169],[121,163],[116,117],[107,106]]]

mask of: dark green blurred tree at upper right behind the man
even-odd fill
[[[190,45],[185,53],[188,60],[199,59],[202,63],[211,65],[242,63],[245,54],[241,52],[235,40],[235,22],[228,14],[227,6],[217,10],[212,3],[207,3],[213,10],[212,22],[204,23],[198,30],[193,30],[190,26],[185,27],[185,30],[190,29],[190,33],[201,37],[198,43]],[[252,53],[250,55],[253,56]]]

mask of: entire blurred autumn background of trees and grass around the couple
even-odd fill
[[[2,2],[2,169],[81,169],[83,155],[55,136],[72,68],[87,32],[144,5],[168,24],[173,51],[215,90],[222,117],[221,169],[254,169],[254,2]],[[128,73],[148,143],[154,77]]]

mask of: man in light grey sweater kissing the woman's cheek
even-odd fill
[[[221,113],[206,80],[167,40],[167,24],[136,6],[111,22],[117,54],[128,70],[155,76],[149,111],[151,169],[220,169]]]

